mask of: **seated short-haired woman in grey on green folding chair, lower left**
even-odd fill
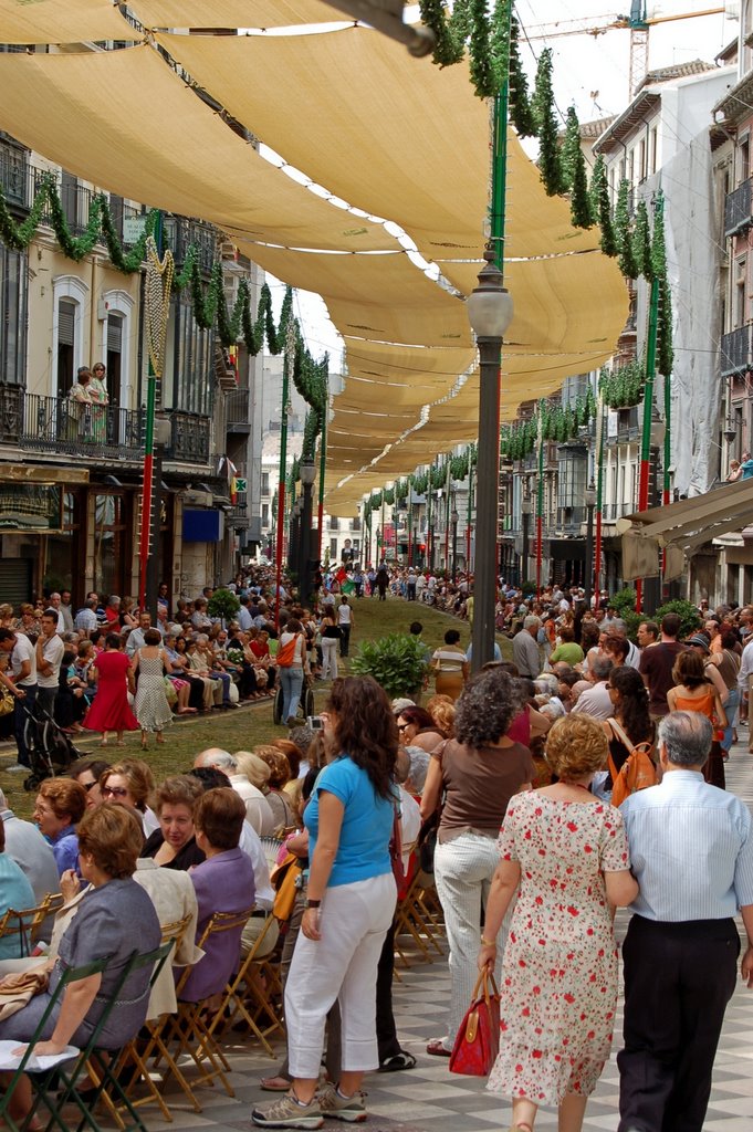
[[[29,1041],[63,971],[106,957],[108,966],[102,974],[89,975],[66,989],[35,1048],[37,1055],[44,1055],[59,1054],[69,1043],[86,1045],[136,943],[142,953],[160,945],[160,921],[154,906],[132,878],[142,842],[140,823],[125,806],[105,804],[86,812],[78,826],[78,856],[82,875],[91,889],[60,941],[54,963],[40,964],[50,971],[49,990],[37,994],[17,1014],[0,1022],[0,1040]],[[146,1018],[151,975],[143,967],[126,979],[118,1009],[99,1036],[102,1048],[119,1049],[138,1034]],[[10,1114],[23,1123],[31,1107],[31,1082],[22,1078]]]

